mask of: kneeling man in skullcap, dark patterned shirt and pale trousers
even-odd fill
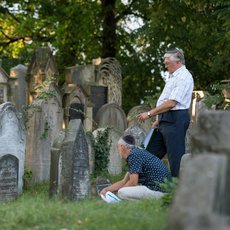
[[[119,139],[118,151],[127,161],[128,172],[122,180],[102,189],[100,194],[105,196],[108,191],[118,191],[118,196],[126,200],[161,198],[164,193],[160,183],[163,183],[164,179],[171,179],[166,165],[147,150],[135,147],[132,135]],[[138,183],[140,177],[144,179],[142,185]]]

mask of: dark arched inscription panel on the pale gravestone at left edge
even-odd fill
[[[18,195],[18,159],[12,155],[0,158],[0,200]]]

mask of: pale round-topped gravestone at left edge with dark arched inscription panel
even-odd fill
[[[22,192],[25,129],[12,103],[0,105],[0,200]]]

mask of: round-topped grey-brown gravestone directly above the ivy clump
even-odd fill
[[[99,127],[113,127],[119,131],[127,128],[126,115],[116,103],[103,105],[97,112],[96,122]]]

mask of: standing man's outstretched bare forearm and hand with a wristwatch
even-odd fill
[[[160,106],[157,106],[156,108],[150,110],[149,112],[150,112],[151,116],[155,116],[155,115],[158,115],[160,113],[164,113],[164,112],[167,112],[167,111],[171,110],[173,107],[176,106],[176,104],[177,104],[177,101],[168,100],[168,101],[165,101]],[[146,120],[148,118],[149,118],[148,112],[140,113],[140,114],[137,115],[137,119],[139,121],[144,121],[144,120]]]

